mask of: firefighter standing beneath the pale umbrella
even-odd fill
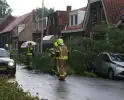
[[[27,46],[27,65],[28,66],[32,65],[32,55],[33,55],[33,47],[32,47],[32,43],[29,42]]]

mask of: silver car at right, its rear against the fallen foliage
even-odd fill
[[[102,52],[94,58],[91,69],[110,79],[124,77],[124,54]]]

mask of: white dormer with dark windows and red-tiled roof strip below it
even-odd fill
[[[83,21],[86,7],[69,12],[69,24],[62,30],[63,34],[83,33]]]

